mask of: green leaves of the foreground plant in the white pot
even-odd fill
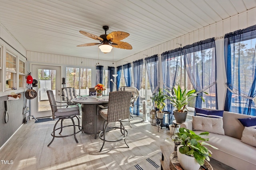
[[[204,160],[210,160],[209,156],[212,156],[212,152],[208,150],[204,145],[210,146],[213,149],[218,149],[204,141],[209,141],[209,138],[202,138],[204,136],[208,136],[209,132],[203,132],[199,135],[196,135],[194,131],[186,129],[184,127],[179,129],[179,133],[175,134],[175,138],[173,141],[180,142],[179,151],[182,154],[194,156],[196,161],[202,166],[204,164]]]

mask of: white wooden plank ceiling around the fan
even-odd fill
[[[256,0],[0,0],[0,24],[28,51],[118,61],[256,7]],[[124,31],[132,50],[98,53],[94,35]]]

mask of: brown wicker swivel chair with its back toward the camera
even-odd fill
[[[126,137],[128,136],[128,131],[125,129],[124,125],[122,124],[122,120],[128,119],[130,116],[130,101],[132,98],[132,92],[128,91],[117,91],[117,92],[110,92],[109,93],[109,99],[108,99],[108,108],[107,109],[101,109],[99,111],[101,117],[105,119],[103,130],[99,134],[99,138],[103,141],[102,147],[100,149],[100,152],[103,149],[103,146],[105,142],[117,142],[124,140],[127,147],[129,148]],[[104,108],[103,106],[100,106],[101,108]],[[120,127],[116,127],[116,124],[114,127],[108,127],[109,123],[111,122],[120,122]],[[120,132],[122,133],[122,137],[115,140],[110,140],[106,138],[106,132],[112,130],[112,129],[120,129]],[[113,132],[114,133],[114,132]]]

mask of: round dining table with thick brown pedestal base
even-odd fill
[[[82,131],[93,134],[94,139],[103,129],[104,119],[99,115],[99,105],[108,106],[108,96],[96,98],[96,96],[78,97],[71,100],[82,104]]]

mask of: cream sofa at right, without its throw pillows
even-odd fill
[[[252,116],[224,111],[223,129],[225,135],[210,133],[210,135],[207,136],[209,138],[207,143],[218,148],[218,150],[208,148],[212,151],[212,158],[236,170],[256,170],[256,147],[241,141],[244,126],[238,119],[248,117]],[[182,123],[180,127],[192,130],[192,120]],[[202,131],[195,131],[197,134],[201,132]]]

